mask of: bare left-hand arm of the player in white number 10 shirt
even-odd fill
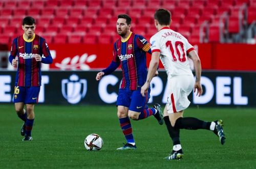
[[[148,88],[150,88],[150,82],[152,78],[155,76],[160,59],[160,51],[153,51],[150,61],[150,67],[148,68],[146,82],[141,87],[141,95],[144,97],[147,93]]]

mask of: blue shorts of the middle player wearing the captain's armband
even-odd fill
[[[140,94],[140,88],[135,91],[120,89],[116,105],[122,105],[129,107],[129,110],[141,112],[143,109],[148,107],[148,99],[150,99],[150,89],[148,89],[146,97],[143,97]]]

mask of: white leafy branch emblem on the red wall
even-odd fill
[[[81,56],[64,58],[60,63],[55,63],[55,66],[60,70],[90,70],[88,63],[93,62],[97,58],[96,54],[88,55],[84,53]]]

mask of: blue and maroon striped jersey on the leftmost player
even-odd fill
[[[31,40],[25,40],[24,35],[13,40],[9,61],[18,57],[18,67],[15,86],[41,86],[41,63],[37,62],[34,54],[44,54],[41,63],[51,64],[52,57],[44,38],[33,35]]]

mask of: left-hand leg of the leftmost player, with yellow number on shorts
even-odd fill
[[[24,121],[22,128],[20,129],[20,134],[25,135],[25,124],[27,119],[27,112],[24,109],[24,102],[25,102],[25,88],[15,86],[14,94],[13,94],[13,102],[15,106],[16,114],[20,119]]]

